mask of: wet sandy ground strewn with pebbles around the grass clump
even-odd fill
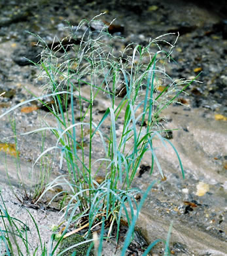
[[[197,74],[202,83],[192,83],[186,94],[179,97],[179,103],[170,106],[163,113],[165,127],[176,129],[167,139],[177,148],[184,165],[185,179],[181,176],[179,161],[169,144],[162,146],[154,140],[156,156],[164,171],[165,179],[160,177],[158,168],[149,175],[150,156],[146,155],[141,170],[133,186],[146,190],[157,179],[143,211],[139,216],[140,228],[148,243],[166,238],[169,224],[173,221],[171,253],[173,255],[227,255],[227,25],[224,1],[213,3],[203,1],[1,1],[0,3],[0,114],[23,100],[32,98],[28,91],[41,95],[43,81],[35,79],[37,70],[33,62],[38,62],[39,49],[34,45],[39,34],[52,43],[55,36],[63,39],[67,32],[63,29],[68,20],[77,26],[86,18],[90,20],[101,12],[107,12],[101,19],[114,26],[110,33],[124,37],[117,41],[116,49],[128,43],[146,45],[150,38],[164,33],[179,32],[177,46],[173,49],[172,63],[167,74],[173,79],[193,79]],[[31,33],[26,32],[29,31]],[[84,89],[86,95],[86,89]],[[182,105],[183,103],[183,105]],[[94,111],[99,119],[108,104],[105,96],[97,98]],[[54,125],[54,119],[37,105],[31,112],[14,111],[18,133],[39,128],[43,120]],[[120,123],[117,124],[120,127]],[[0,188],[3,199],[14,217],[25,221],[34,249],[38,243],[35,226],[29,219],[26,206],[20,203],[9,187],[20,199],[24,190],[18,184],[18,169],[14,151],[14,133],[9,116],[1,118],[0,134]],[[120,129],[120,128],[119,128]],[[5,142],[9,143],[7,150]],[[46,144],[54,145],[54,138],[48,134]],[[39,168],[31,169],[32,162],[39,156],[41,136],[37,133],[18,137],[20,168],[24,184],[29,193],[37,184]],[[97,144],[99,154],[99,144]],[[7,151],[7,166],[5,152]],[[8,154],[9,153],[9,154]],[[7,176],[8,171],[8,176]],[[65,174],[58,164],[53,164],[51,179]],[[34,179],[35,177],[35,179]],[[61,188],[63,189],[63,188]],[[56,194],[56,191],[52,192]],[[52,194],[49,195],[49,198]],[[48,196],[46,202],[48,201]],[[58,205],[58,201],[56,201]],[[43,241],[50,240],[52,224],[57,224],[60,214],[57,206],[47,208],[44,203],[29,211],[41,228]],[[31,206],[31,205],[30,205]],[[108,251],[108,249],[111,248]],[[116,255],[113,247],[105,247],[105,255]],[[133,255],[133,254],[131,254]],[[159,243],[151,255],[164,255],[164,244]]]

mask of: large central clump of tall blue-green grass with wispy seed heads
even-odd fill
[[[104,228],[109,226],[107,237],[111,237],[113,226],[116,225],[118,240],[122,218],[126,219],[130,227],[122,248],[122,256],[125,255],[139,211],[154,184],[152,182],[148,187],[141,202],[137,202],[134,196],[141,191],[132,188],[133,180],[145,154],[150,154],[152,161],[150,175],[156,164],[160,175],[164,177],[152,140],[157,137],[164,146],[171,144],[160,135],[166,131],[158,125],[160,114],[192,83],[173,81],[166,74],[165,65],[171,60],[178,35],[162,35],[149,41],[145,47],[130,44],[117,53],[113,45],[122,39],[110,35],[108,26],[97,18],[82,20],[77,27],[67,28],[69,36],[63,40],[56,38],[52,46],[38,37],[37,45],[43,47],[43,52],[41,62],[35,66],[40,70],[39,77],[46,81],[43,95],[26,100],[0,116],[28,102],[39,100],[49,110],[49,115],[56,119],[56,127],[48,125],[46,121],[44,127],[23,134],[51,131],[56,143],[45,150],[43,146],[43,152],[33,166],[42,163],[44,156],[54,152],[59,168],[67,169],[68,173],[46,186],[41,184],[44,191],[37,199],[41,200],[45,192],[54,186],[68,186],[67,205],[62,215],[67,225],[58,242],[54,242],[52,236],[48,255],[54,255],[61,240],[77,233],[79,226],[88,229],[85,237],[90,236],[94,227],[100,226],[101,242],[97,255],[101,255]],[[172,43],[167,41],[169,39]],[[65,44],[65,41],[68,43]],[[165,45],[164,49],[160,45]],[[164,89],[160,90],[161,87]],[[97,120],[94,110],[100,95],[104,95],[109,103],[103,116]],[[50,97],[52,103],[46,103],[45,99]],[[116,125],[119,123],[120,133],[117,133]],[[86,141],[88,146],[85,145]],[[179,159],[184,177],[179,154],[173,144],[171,146]],[[96,150],[100,152],[99,157],[95,154]],[[97,182],[96,177],[100,173],[104,180]],[[65,190],[61,193],[65,193]],[[7,211],[1,209],[1,213],[3,220],[7,217],[10,223]],[[77,229],[68,232],[69,224]],[[10,223],[10,226],[13,225]],[[1,239],[12,250],[7,226],[5,231],[1,230]],[[154,244],[149,246],[146,253]],[[42,243],[40,247],[42,255],[47,255],[47,248],[42,247]]]

